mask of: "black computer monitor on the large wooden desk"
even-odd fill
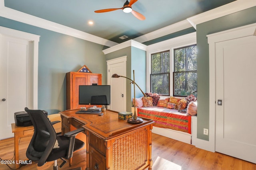
[[[110,105],[110,85],[79,86],[80,105]]]

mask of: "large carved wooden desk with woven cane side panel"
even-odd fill
[[[75,110],[59,112],[62,133],[70,125],[84,127],[86,134],[86,170],[152,170],[151,130],[154,121],[143,119],[130,124],[118,119],[118,112],[106,110],[104,115],[76,114]]]

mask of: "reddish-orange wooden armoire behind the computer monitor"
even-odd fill
[[[78,90],[79,85],[102,85],[102,74],[86,72],[66,73],[66,109],[79,109],[80,107],[91,107],[79,105]]]

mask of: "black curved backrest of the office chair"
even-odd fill
[[[38,166],[42,166],[52,152],[57,135],[50,120],[42,110],[30,110],[26,107],[25,111],[34,126],[34,135],[28,145],[26,156],[30,160],[38,160]]]

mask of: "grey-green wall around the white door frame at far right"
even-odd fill
[[[256,23],[256,7],[196,25],[198,113],[197,137],[209,140],[203,135],[203,128],[209,129],[209,47],[206,35]],[[242,69],[242,68],[241,68]]]

